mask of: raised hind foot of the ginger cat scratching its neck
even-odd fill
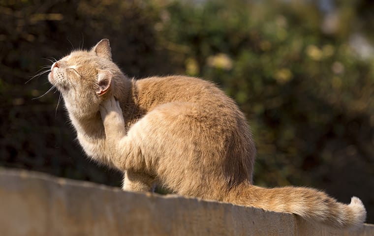
[[[100,104],[101,119],[104,124],[106,146],[114,158],[118,158],[120,140],[125,137],[125,121],[120,103],[113,97],[104,100]]]

